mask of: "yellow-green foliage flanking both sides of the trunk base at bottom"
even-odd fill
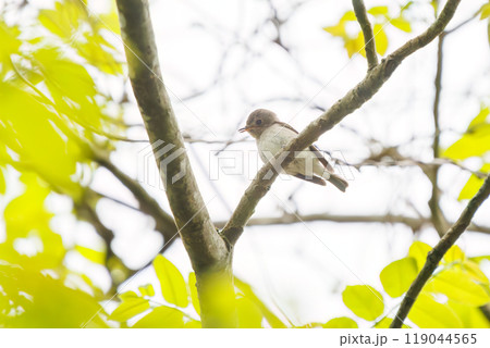
[[[185,282],[182,273],[163,256],[157,256],[152,265],[160,294],[154,291],[152,285],[139,287],[139,294],[123,293],[119,295],[120,303],[109,319],[120,322],[123,327],[200,327],[195,274],[191,273],[188,282]],[[235,283],[236,298],[226,306],[236,307],[240,327],[286,327],[249,285],[240,279]],[[159,302],[160,298],[164,303]],[[222,297],[217,295],[217,298],[222,301]]]

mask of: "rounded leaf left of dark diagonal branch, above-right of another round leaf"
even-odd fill
[[[417,273],[417,261],[414,258],[404,258],[387,265],[381,271],[380,279],[384,291],[394,298],[408,290]]]

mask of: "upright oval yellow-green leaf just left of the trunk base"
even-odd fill
[[[181,272],[161,254],[155,258],[154,268],[166,301],[177,307],[187,307],[187,286]]]

